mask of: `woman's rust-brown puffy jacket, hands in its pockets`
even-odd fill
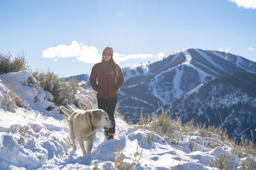
[[[122,70],[118,66],[118,77],[108,72],[108,62],[102,60],[92,67],[90,75],[90,83],[93,90],[97,92],[97,97],[109,98],[117,97],[117,91],[124,84],[124,76]],[[98,80],[98,82],[96,81]],[[115,81],[117,80],[117,82]]]

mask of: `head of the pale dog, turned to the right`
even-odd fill
[[[99,129],[106,127],[106,128],[111,128],[113,127],[115,124],[114,122],[112,122],[109,117],[108,114],[104,111],[104,110],[92,110],[92,119],[93,119],[93,124],[95,124],[95,126]]]

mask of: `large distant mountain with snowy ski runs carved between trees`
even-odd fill
[[[124,68],[123,72],[120,110],[136,122],[141,111],[151,114],[159,105],[168,108],[173,100],[216,76],[256,73],[256,63],[231,53],[184,48],[163,60]]]

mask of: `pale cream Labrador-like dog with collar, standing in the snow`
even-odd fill
[[[83,112],[74,112],[60,106],[60,110],[68,117],[70,129],[70,138],[73,143],[73,150],[76,150],[75,139],[79,141],[84,155],[92,152],[93,139],[97,129],[103,127],[111,128],[114,122],[109,120],[108,114],[104,110],[86,110]],[[86,152],[84,150],[84,141],[86,141]]]

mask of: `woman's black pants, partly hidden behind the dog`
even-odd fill
[[[111,121],[115,123],[114,113],[116,108],[116,101],[117,97],[110,97],[110,98],[97,98],[98,101],[98,108],[106,111],[108,113],[108,117]],[[109,129],[109,133],[115,134],[116,125]]]

